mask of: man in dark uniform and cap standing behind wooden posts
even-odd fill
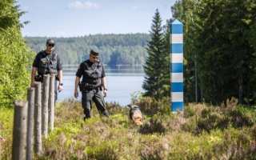
[[[38,75],[41,76],[41,82],[43,78],[43,74],[58,74],[58,92],[62,91],[62,63],[58,54],[54,53],[54,40],[48,39],[46,41],[46,50],[42,50],[39,52],[36,57],[34,58],[33,68],[31,73],[31,83],[30,87],[34,87],[34,76],[36,71],[38,70]],[[55,102],[58,98],[57,93],[57,79],[55,78],[55,87],[54,87],[54,94],[55,94]]]

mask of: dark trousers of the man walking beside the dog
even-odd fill
[[[106,105],[104,98],[102,96],[102,91],[98,88],[96,89],[85,89],[82,90],[82,108],[84,113],[84,119],[90,118],[90,110],[92,101],[95,102],[95,105],[100,112],[105,117],[109,117],[109,114],[106,111]]]

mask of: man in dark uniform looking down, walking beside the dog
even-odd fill
[[[81,77],[82,83],[80,83]],[[92,101],[95,102],[100,114],[105,117],[109,117],[109,114],[106,111],[105,101],[102,96],[102,86],[104,97],[106,97],[107,94],[105,71],[102,66],[102,62],[98,61],[98,53],[94,52],[94,50],[90,50],[90,59],[82,62],[78,67],[74,86],[75,98],[78,98],[78,86],[82,92],[84,120],[91,117],[90,110]]]

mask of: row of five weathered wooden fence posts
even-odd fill
[[[34,82],[34,88],[27,88],[27,101],[14,101],[13,160],[31,160],[33,142],[34,153],[42,153],[48,123],[50,132],[54,130],[54,83],[55,74],[46,74],[43,83]]]

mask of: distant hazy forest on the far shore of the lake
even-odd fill
[[[142,65],[147,53],[149,34],[96,34],[73,38],[53,38],[55,51],[65,65],[77,65],[89,58],[90,50],[98,50],[107,65]],[[46,39],[25,37],[27,46],[35,52],[45,50]]]

